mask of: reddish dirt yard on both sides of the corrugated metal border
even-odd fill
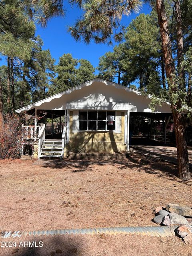
[[[192,205],[192,182],[175,176],[176,166],[132,154],[115,161],[0,161],[0,231],[148,226],[156,206]],[[4,240],[4,239],[2,239]],[[6,241],[12,241],[8,238]],[[71,235],[22,237],[43,248],[19,248],[16,256],[192,256],[178,237]],[[0,248],[8,256],[14,248]]]

